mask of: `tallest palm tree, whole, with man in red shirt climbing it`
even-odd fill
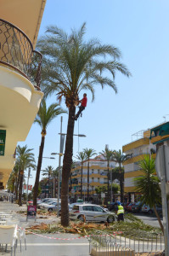
[[[42,79],[46,85],[45,94],[51,95],[58,92],[59,100],[65,98],[65,104],[69,108],[69,119],[65,141],[65,154],[62,172],[61,194],[61,224],[69,225],[68,208],[68,183],[70,177],[73,156],[73,132],[78,105],[79,93],[82,90],[90,90],[94,99],[94,85],[101,84],[102,88],[108,85],[115,92],[115,73],[121,72],[129,77],[131,74],[119,60],[119,49],[106,44],[100,44],[99,40],[84,41],[85,23],[79,31],[73,30],[67,35],[57,26],[49,26],[47,35],[40,38],[37,48],[42,52]],[[106,56],[109,59],[105,59]],[[103,76],[104,71],[110,72],[111,78]],[[106,73],[107,74],[107,73]],[[46,81],[46,84],[45,84]]]

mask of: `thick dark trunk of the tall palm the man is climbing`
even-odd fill
[[[69,226],[69,207],[68,207],[68,198],[69,198],[69,177],[72,164],[73,156],[73,132],[75,120],[72,119],[72,116],[75,116],[75,107],[69,108],[69,119],[67,126],[67,136],[65,141],[65,154],[63,160],[63,169],[62,169],[62,188],[61,188],[61,224],[65,227]]]

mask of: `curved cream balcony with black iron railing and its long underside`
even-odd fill
[[[14,151],[25,141],[37,115],[43,93],[42,55],[17,26],[0,19],[0,130],[6,131],[4,155],[0,156],[3,184],[14,167]]]

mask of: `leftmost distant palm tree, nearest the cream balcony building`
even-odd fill
[[[24,178],[24,171],[26,168],[31,167],[35,169],[35,158],[34,154],[31,153],[33,149],[32,148],[27,148],[27,145],[24,147],[17,146],[16,147],[16,156],[17,156],[17,164],[19,165],[20,168],[20,184],[19,184],[19,202],[18,204],[21,206],[22,201],[22,187],[23,187],[23,178]]]

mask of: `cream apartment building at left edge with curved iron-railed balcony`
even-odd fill
[[[35,50],[46,0],[0,1],[0,189],[14,167],[18,142],[37,115],[42,55]]]

